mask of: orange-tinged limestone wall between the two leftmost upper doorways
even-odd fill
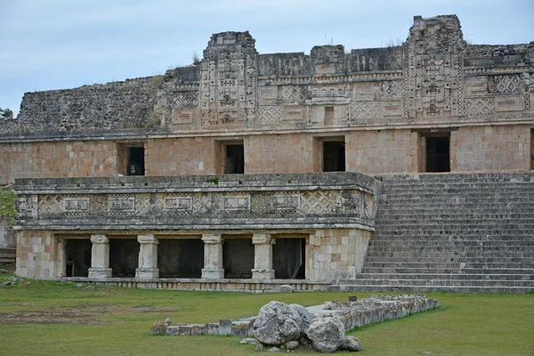
[[[215,146],[209,138],[150,139],[145,175],[216,174]]]

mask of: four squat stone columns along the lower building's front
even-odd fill
[[[202,235],[204,241],[204,268],[203,279],[223,279],[223,242],[220,233],[207,233]],[[135,269],[136,279],[157,279],[158,270],[158,239],[154,235],[138,235],[140,243],[139,264]],[[91,235],[93,243],[91,253],[91,268],[89,278],[106,279],[111,277],[109,268],[109,239],[105,235]],[[274,279],[272,269],[271,234],[255,233],[252,243],[255,246],[254,269],[252,279]]]

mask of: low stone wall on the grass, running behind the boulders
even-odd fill
[[[425,312],[440,306],[437,299],[426,295],[370,295],[360,301],[349,303],[327,302],[322,305],[307,308],[313,318],[335,316],[344,323],[346,331],[376,324],[385,320],[395,320]],[[152,328],[152,335],[171,336],[254,336],[255,318],[244,320],[220,320],[205,324],[176,324],[167,319],[165,322],[156,321]]]

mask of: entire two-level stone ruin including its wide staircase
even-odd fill
[[[25,93],[0,122],[17,274],[534,291],[533,61],[416,16],[398,46],[260,54],[223,32],[164,76]]]

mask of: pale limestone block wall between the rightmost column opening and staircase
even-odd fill
[[[318,229],[306,249],[306,279],[353,279],[361,271],[370,231]]]

